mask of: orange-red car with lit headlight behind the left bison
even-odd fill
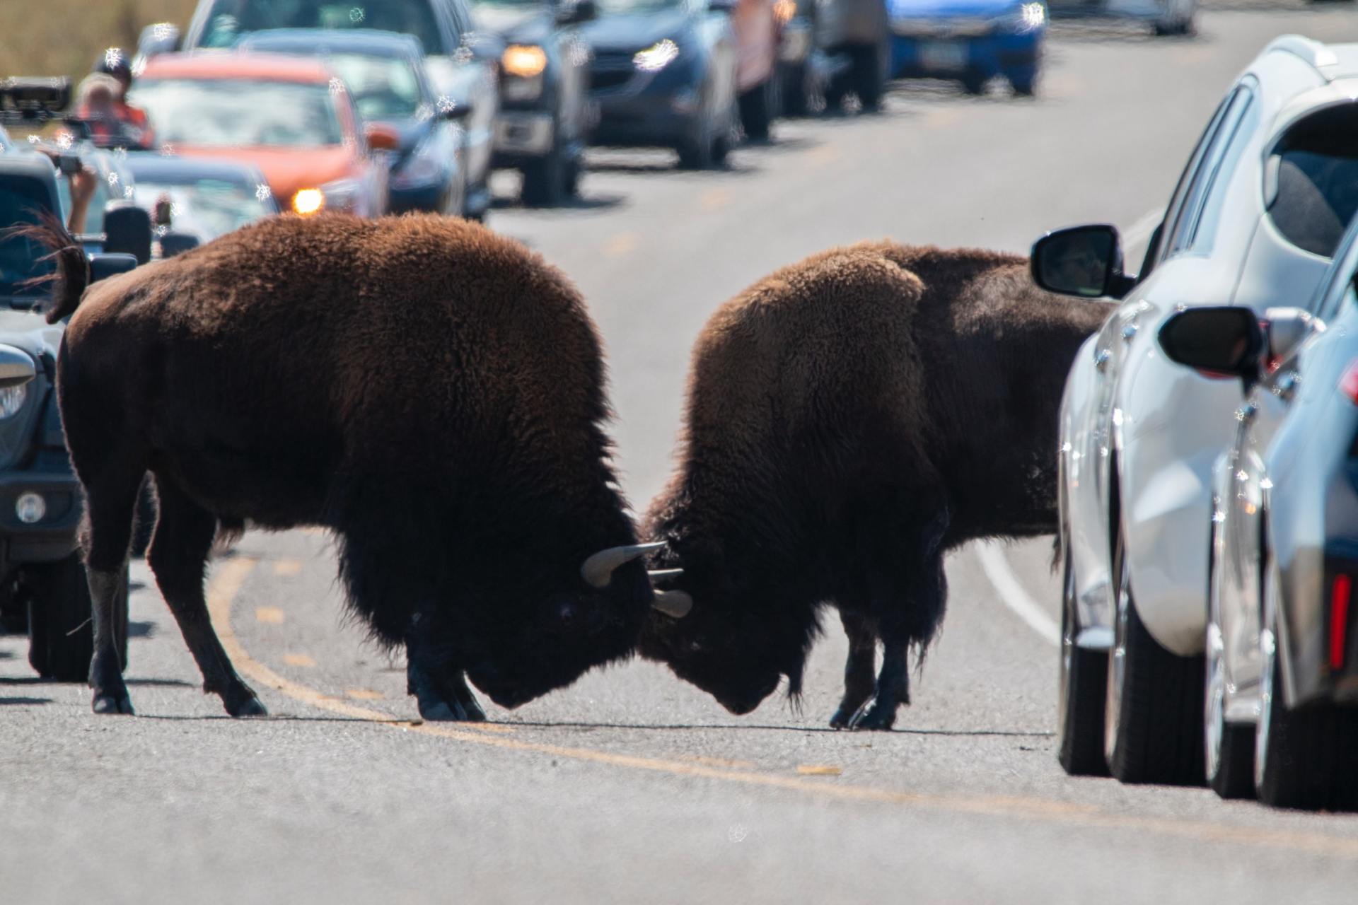
[[[130,98],[163,149],[250,163],[280,205],[299,214],[387,212],[390,126],[363,128],[344,83],[315,60],[270,54],[163,54]]]

